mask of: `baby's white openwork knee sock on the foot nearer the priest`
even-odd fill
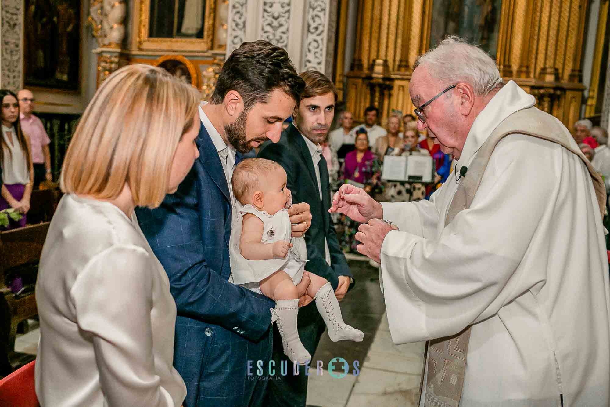
[[[362,331],[343,322],[339,301],[332,290],[331,283],[328,282],[320,287],[315,294],[315,306],[318,307],[318,312],[326,323],[328,336],[331,337],[332,342],[338,340],[361,342],[364,339]]]

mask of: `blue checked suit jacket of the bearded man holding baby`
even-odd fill
[[[137,217],[176,301],[174,366],[185,407],[248,405],[246,361],[271,358],[273,301],[228,282],[231,204],[218,152],[203,123],[199,158],[159,208]],[[241,160],[237,155],[236,161]]]

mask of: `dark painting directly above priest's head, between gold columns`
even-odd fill
[[[502,0],[434,0],[430,47],[455,34],[479,45],[495,58]]]

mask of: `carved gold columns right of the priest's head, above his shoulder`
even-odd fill
[[[580,116],[586,8],[587,0],[502,2],[501,74],[534,95],[538,108],[558,117],[568,128]],[[513,78],[508,75],[508,65],[512,65]]]

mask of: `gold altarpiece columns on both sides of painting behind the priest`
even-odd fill
[[[375,105],[383,123],[392,109],[412,112],[409,81],[418,55],[430,48],[434,0],[359,0],[356,50],[347,73],[346,109],[364,120]],[[345,3],[342,1],[342,4]],[[534,95],[537,106],[572,125],[583,97],[581,60],[588,0],[502,0],[497,64]],[[340,20],[343,15],[340,15]],[[341,21],[339,23],[342,27]],[[345,31],[339,30],[339,41]],[[337,57],[336,81],[343,58]]]

